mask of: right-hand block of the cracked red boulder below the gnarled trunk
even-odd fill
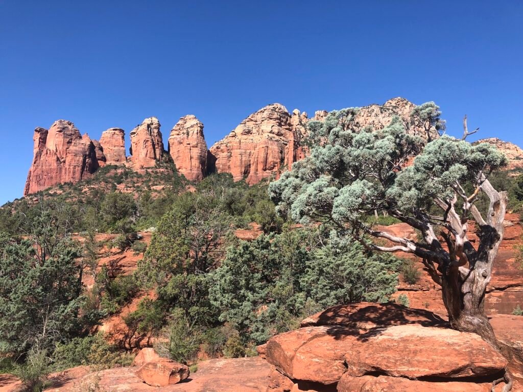
[[[483,377],[503,371],[507,360],[478,335],[449,328],[400,325],[369,332],[345,354],[347,373],[394,377]]]

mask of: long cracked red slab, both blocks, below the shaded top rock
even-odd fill
[[[437,349],[436,349],[437,348]],[[305,327],[267,344],[267,361],[294,380],[336,383],[347,372],[396,377],[483,377],[507,364],[479,336],[419,324],[374,328]]]

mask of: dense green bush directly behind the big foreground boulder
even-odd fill
[[[220,321],[239,332],[243,347],[297,328],[321,308],[385,302],[395,292],[397,259],[336,238],[311,250],[309,236],[308,230],[292,230],[242,241],[214,272],[211,302],[220,309]]]

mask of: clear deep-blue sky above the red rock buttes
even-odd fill
[[[519,0],[0,0],[0,204],[56,119],[98,139],[156,116],[166,140],[195,114],[210,146],[268,103],[402,96],[438,103],[451,134],[466,113],[478,137],[523,145],[522,20]]]

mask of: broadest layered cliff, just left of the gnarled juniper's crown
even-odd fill
[[[306,113],[296,110],[291,116],[279,103],[258,110],[210,148],[211,171],[249,184],[270,177],[303,157],[299,144],[306,121]]]

